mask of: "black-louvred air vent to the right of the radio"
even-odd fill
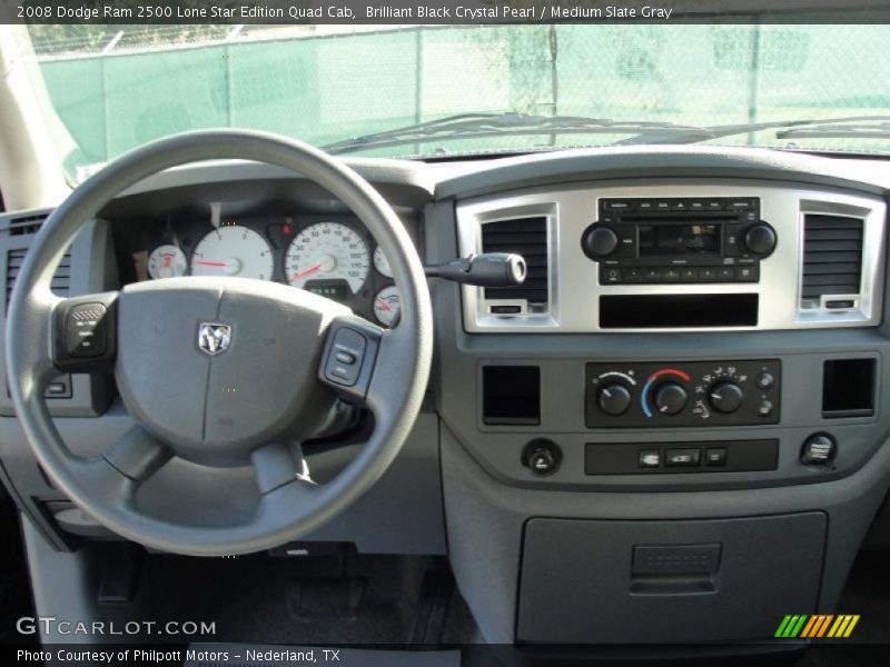
[[[803,219],[804,301],[859,295],[862,278],[863,220],[807,215]]]

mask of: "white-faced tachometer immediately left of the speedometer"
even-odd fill
[[[192,276],[238,276],[270,280],[271,248],[259,233],[226,225],[205,236],[191,256]]]

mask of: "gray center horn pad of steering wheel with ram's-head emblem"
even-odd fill
[[[245,465],[256,447],[304,440],[325,421],[336,400],[315,369],[330,322],[349,313],[305,290],[244,278],[130,285],[116,308],[118,389],[130,415],[178,456]],[[208,328],[224,337],[208,338]]]

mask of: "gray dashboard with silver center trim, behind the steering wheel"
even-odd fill
[[[890,488],[887,161],[627,147],[348,163],[424,263],[518,252],[528,277],[431,280],[435,358],[415,430],[367,497],[307,539],[447,554],[497,644],[745,640],[772,637],[789,609],[833,608]],[[47,213],[0,216],[7,290]],[[245,276],[388,325],[388,273],[328,193],[233,161],[125,192],[53,287]],[[48,402],[78,452],[131,426],[111,381],[59,382]],[[13,415],[8,397],[0,414]],[[348,458],[335,454],[308,452],[332,476]],[[67,548],[70,504],[11,418],[0,461]],[[169,475],[191,490],[187,467]],[[158,514],[188,511],[149,491]]]

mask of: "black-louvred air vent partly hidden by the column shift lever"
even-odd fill
[[[485,299],[525,300],[531,311],[545,311],[547,303],[547,219],[496,220],[482,226],[483,252],[515,252],[525,258],[528,275],[523,285],[485,288]]]

